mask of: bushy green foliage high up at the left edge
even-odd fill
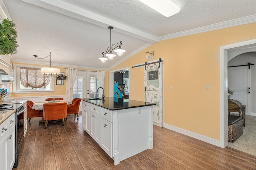
[[[18,43],[16,41],[16,25],[8,18],[2,21],[0,25],[0,54],[16,54]]]

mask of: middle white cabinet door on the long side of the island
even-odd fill
[[[90,136],[100,145],[100,116],[90,112]]]

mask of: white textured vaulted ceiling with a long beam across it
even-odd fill
[[[256,21],[255,0],[172,0],[178,14],[164,17],[139,0],[0,0],[16,23],[14,62],[108,70],[152,43]],[[98,58],[122,41],[122,56]],[[145,57],[145,56],[142,56]]]

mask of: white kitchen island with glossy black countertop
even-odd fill
[[[153,148],[154,103],[123,98],[82,99],[83,129],[114,159],[114,165]]]

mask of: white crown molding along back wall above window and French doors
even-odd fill
[[[34,64],[34,65],[46,65],[49,66],[49,63],[46,62],[36,62],[36,61],[29,61],[29,60],[12,60],[12,63],[22,63],[22,64]],[[108,71],[107,68],[98,68],[98,67],[86,67],[86,66],[77,66],[77,65],[69,65],[69,64],[52,64],[52,66],[56,67],[65,67],[65,68],[78,68],[78,69],[85,69],[85,70],[102,70],[102,71]]]

